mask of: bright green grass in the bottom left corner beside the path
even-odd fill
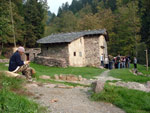
[[[45,109],[24,96],[2,89],[0,91],[0,113],[45,113]]]

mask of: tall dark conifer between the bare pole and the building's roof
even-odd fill
[[[24,4],[26,34],[24,42],[28,47],[35,47],[36,41],[44,36],[45,9],[41,2],[28,0]]]

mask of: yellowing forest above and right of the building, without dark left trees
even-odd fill
[[[150,49],[150,0],[73,0],[51,18],[46,35],[59,32],[107,29],[108,52],[137,56],[145,63]]]

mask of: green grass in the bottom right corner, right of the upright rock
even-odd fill
[[[112,103],[127,113],[150,113],[150,93],[106,84],[101,93],[91,98]]]

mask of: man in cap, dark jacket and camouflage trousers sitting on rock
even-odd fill
[[[31,79],[34,70],[29,67],[30,61],[21,60],[21,55],[24,54],[24,52],[25,49],[23,47],[19,47],[18,50],[11,56],[9,61],[9,71],[14,73],[22,72],[27,79]]]

